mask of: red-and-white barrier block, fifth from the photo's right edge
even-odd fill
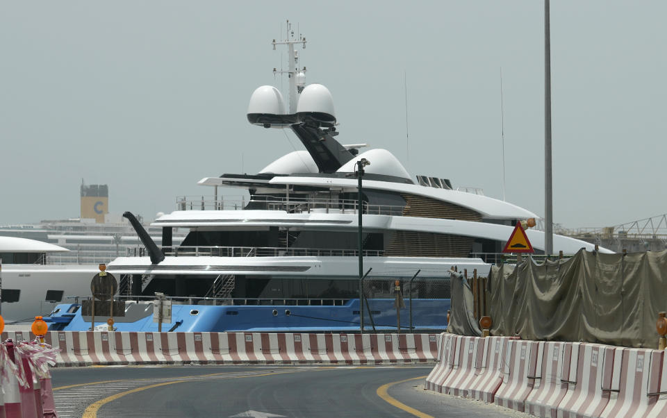
[[[533,389],[538,342],[510,340],[504,356],[502,384],[495,392],[497,405],[524,412],[525,401]]]

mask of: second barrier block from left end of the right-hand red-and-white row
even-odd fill
[[[467,397],[466,383],[470,381],[470,378],[475,377],[478,360],[481,365],[482,353],[484,353],[484,340],[478,337],[459,337],[456,340],[456,356],[452,372],[443,381],[442,392]]]

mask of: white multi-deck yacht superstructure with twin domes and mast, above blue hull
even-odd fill
[[[305,84],[297,44],[305,47],[306,40],[289,28],[286,40],[272,42],[288,47],[288,105],[276,87],[258,87],[247,119],[290,129],[305,151],[288,153],[258,174],[201,179],[200,185],[214,187],[213,199],[179,199],[178,210],[151,224],[162,228],[163,260],[153,255],[151,261],[149,250],[140,248],[108,266],[122,277],[128,296],[165,292],[227,303],[359,297],[359,219],[363,271],[371,276],[401,279],[420,271],[422,278],[447,278],[454,265],[484,275],[490,260],[481,256],[500,253],[517,221],[537,217],[477,190],[454,190],[447,179],[413,179],[385,149],[362,152],[366,144],[338,142],[331,93]],[[360,202],[361,161],[370,164]],[[219,197],[219,187],[247,190],[249,201]],[[171,241],[174,228],[190,231],[179,246]],[[543,251],[544,234],[527,235]],[[554,237],[554,246],[566,253],[593,249],[563,236]]]

